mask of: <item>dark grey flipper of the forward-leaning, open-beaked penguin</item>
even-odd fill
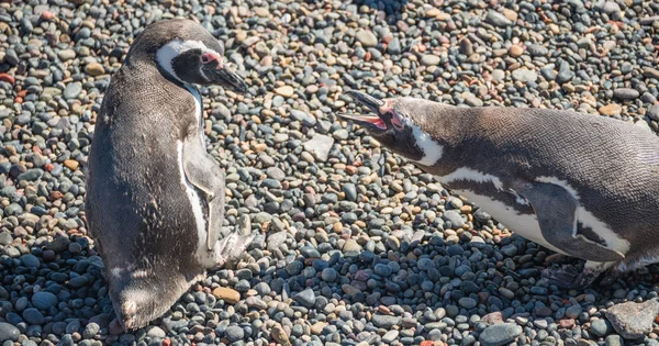
[[[530,202],[543,237],[566,254],[597,263],[616,261],[625,256],[577,234],[579,201],[566,188],[551,182],[523,182],[515,187]]]

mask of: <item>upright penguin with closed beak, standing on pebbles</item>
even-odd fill
[[[234,263],[252,236],[224,234],[224,172],[205,149],[194,85],[237,92],[223,45],[189,20],[135,40],[112,77],[89,155],[86,214],[125,330],[161,316],[205,270]]]

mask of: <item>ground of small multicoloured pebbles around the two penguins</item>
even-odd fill
[[[551,253],[335,116],[358,111],[342,91],[359,89],[657,131],[657,0],[1,1],[0,345],[657,345],[657,266],[548,286]],[[239,268],[122,334],[83,170],[133,37],[174,16],[223,40],[252,86],[202,91],[226,225],[260,236]]]

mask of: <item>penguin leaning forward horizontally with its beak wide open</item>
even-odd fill
[[[585,259],[547,269],[551,283],[584,288],[615,266],[659,261],[659,137],[569,111],[457,108],[348,94],[375,114],[347,115],[520,235]]]

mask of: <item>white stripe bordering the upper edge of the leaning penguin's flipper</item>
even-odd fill
[[[577,190],[574,190],[574,188],[572,188],[565,180],[560,180],[556,177],[538,177],[536,181],[554,183],[556,186],[559,186],[568,190],[570,194],[572,194],[572,197],[577,199],[577,201],[580,201]],[[577,220],[581,222],[581,224],[583,224],[584,227],[590,227],[591,230],[593,230],[594,233],[596,233],[602,239],[604,239],[608,248],[615,249],[623,254],[626,254],[629,250],[629,242],[618,236],[613,230],[608,227],[606,223],[597,219],[590,211],[585,210],[585,208],[581,205],[581,203],[579,203],[578,205],[579,207],[577,208]]]

